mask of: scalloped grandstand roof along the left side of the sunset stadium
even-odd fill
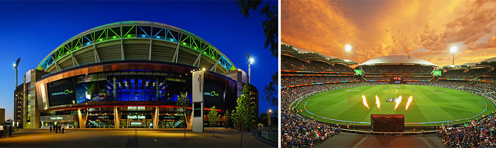
[[[302,51],[308,51],[308,52],[302,52]],[[327,63],[342,63],[345,65],[356,65],[359,64],[358,62],[352,61],[352,60],[343,60],[337,57],[333,56],[324,56],[320,53],[317,52],[311,52],[310,50],[307,49],[300,49],[296,48],[293,45],[286,44],[281,42],[281,53],[283,54],[288,54],[294,57],[297,57],[302,60],[315,60],[315,61],[324,61]]]

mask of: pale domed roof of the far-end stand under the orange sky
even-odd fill
[[[373,64],[421,64],[421,65],[437,67],[437,65],[429,61],[426,61],[424,59],[416,58],[413,56],[405,56],[405,55],[390,55],[390,56],[378,57],[366,61],[358,66],[373,65]]]

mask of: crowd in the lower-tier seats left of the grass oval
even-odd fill
[[[298,113],[291,108],[291,103],[310,94],[325,90],[370,85],[366,82],[343,82],[291,87],[281,90],[281,147],[301,148],[315,144],[339,134],[341,128],[336,125],[318,122]]]

